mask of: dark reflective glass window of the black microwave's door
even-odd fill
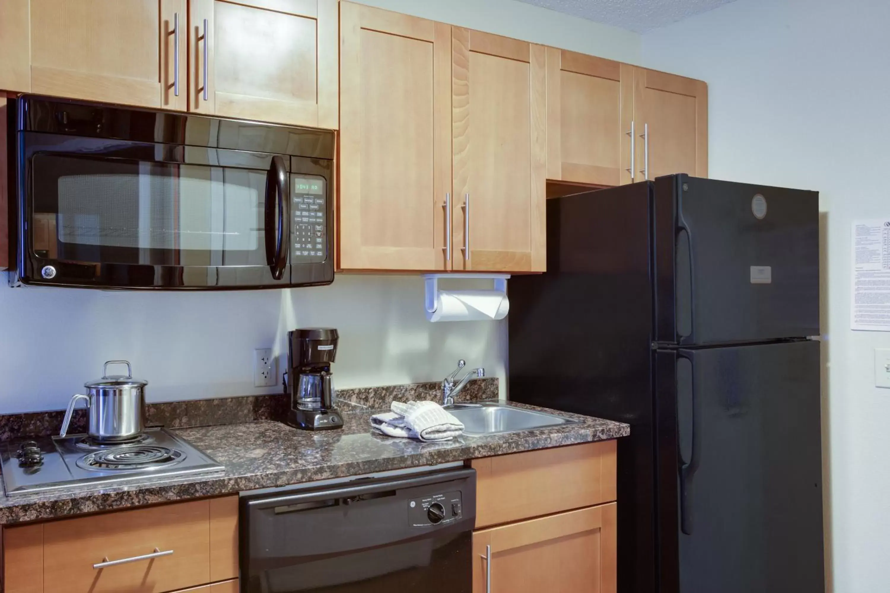
[[[266,263],[266,171],[37,155],[33,173],[39,257],[173,266]]]

